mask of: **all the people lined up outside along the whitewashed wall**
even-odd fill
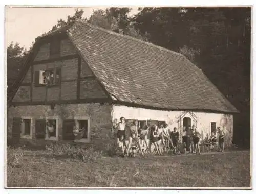
[[[219,132],[219,146],[220,151],[224,151],[224,132]],[[112,132],[115,134],[115,150],[122,149],[124,156],[135,157],[138,150],[144,155],[145,151],[151,152],[152,144],[155,146],[157,154],[162,155],[163,152],[171,148],[177,148],[179,142],[179,132],[175,127],[170,131],[166,123],[161,123],[159,126],[153,125],[151,127],[139,126],[137,120],[133,121],[133,125],[127,127],[125,125],[125,118],[121,117],[120,122],[117,119],[112,124]],[[182,145],[185,151],[190,153],[200,153],[199,141],[201,134],[197,131],[195,126],[183,128],[182,132]],[[147,141],[149,140],[149,141]],[[214,133],[209,138],[208,135],[204,141],[208,146],[216,144],[217,138]]]

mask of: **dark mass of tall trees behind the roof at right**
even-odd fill
[[[143,8],[136,29],[183,53],[241,112],[234,130],[250,133],[251,8]],[[193,73],[193,72],[191,72]],[[238,129],[239,126],[239,129]],[[241,128],[248,129],[246,133]]]

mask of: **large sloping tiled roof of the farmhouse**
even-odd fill
[[[165,109],[238,112],[182,54],[80,20],[68,35],[113,100]]]

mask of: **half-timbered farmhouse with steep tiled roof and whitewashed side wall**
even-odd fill
[[[13,88],[8,134],[30,139],[71,141],[76,123],[86,130],[77,141],[97,143],[124,116],[203,137],[220,126],[228,146],[238,112],[185,56],[80,20],[36,39]]]

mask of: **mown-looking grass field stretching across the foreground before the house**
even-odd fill
[[[145,158],[93,153],[80,160],[56,150],[8,149],[7,186],[250,187],[249,151]]]

